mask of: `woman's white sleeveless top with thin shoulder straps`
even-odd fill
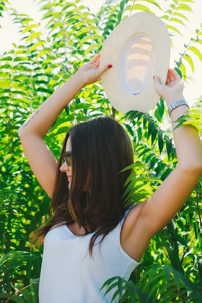
[[[75,236],[66,225],[49,230],[43,243],[39,303],[110,303],[118,287],[111,289],[104,297],[109,286],[99,292],[103,284],[115,276],[128,281],[132,271],[142,261],[133,260],[121,247],[120,231],[124,218],[105,237],[100,249],[98,242],[103,235],[96,239],[97,244],[92,249],[94,260],[88,252],[93,233],[84,237]],[[119,299],[117,295],[113,303],[119,302]]]

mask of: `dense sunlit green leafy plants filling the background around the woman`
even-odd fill
[[[167,23],[173,46],[173,36],[180,35],[178,26],[188,25],[186,14],[192,12],[194,1],[167,2],[169,9],[163,11],[155,0],[108,0],[94,15],[80,0],[41,0],[38,4],[47,21],[45,32],[40,23],[19,14],[9,1],[0,2],[0,17],[8,10],[22,34],[21,44],[13,43],[13,49],[0,59],[0,302],[38,302],[42,247],[30,253],[28,236],[48,220],[50,203],[23,154],[17,130],[79,66],[101,51],[110,32],[135,10],[153,13],[152,8],[157,7],[158,16]],[[193,54],[198,57],[198,64],[202,62],[198,49],[201,37],[202,23],[184,45],[179,61],[175,61],[175,70],[185,82],[187,67],[194,72]],[[68,128],[103,114],[115,117],[133,142],[134,182],[126,188],[125,195],[128,193],[128,203],[141,203],[177,165],[172,134],[160,127],[168,115],[163,99],[152,116],[137,111],[123,115],[111,106],[101,82],[87,85],[62,111],[44,141],[58,159]],[[194,118],[190,123],[201,137],[200,98],[189,114]],[[183,119],[180,121],[183,125]],[[151,239],[130,280],[114,277],[106,281],[108,289],[118,285],[115,296],[120,296],[120,302],[201,300],[201,181],[200,178],[171,222]]]

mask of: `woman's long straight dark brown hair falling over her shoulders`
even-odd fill
[[[66,173],[60,171],[69,136],[72,149],[70,189]],[[132,169],[119,172],[133,164],[133,156],[127,132],[112,117],[91,118],[70,128],[58,162],[53,196],[48,208],[50,219],[30,234],[30,249],[35,240],[34,246],[42,244],[46,233],[55,225],[69,225],[76,221],[79,228],[82,226],[85,230],[81,236],[93,232],[89,243],[89,254],[92,257],[96,238],[103,234],[99,242],[102,244],[127,210],[125,197],[122,199],[122,196],[124,183]],[[88,174],[90,194],[89,191],[83,191]]]

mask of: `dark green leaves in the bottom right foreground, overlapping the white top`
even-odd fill
[[[114,282],[115,280],[117,282]],[[131,280],[125,281],[117,276],[107,280],[102,288],[108,285],[105,292],[107,294],[117,286],[113,299],[118,295],[120,303],[128,302],[128,298],[132,299],[132,302],[173,302],[176,293],[180,298],[178,302],[192,302],[201,294],[200,285],[191,283],[182,273],[167,265],[155,265],[146,269],[139,282],[141,287],[134,285]],[[188,296],[186,296],[187,288],[189,289]]]

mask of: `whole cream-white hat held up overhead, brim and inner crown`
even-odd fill
[[[112,68],[100,76],[112,106],[123,114],[152,109],[160,99],[153,76],[166,84],[170,63],[170,36],[165,23],[147,12],[121,22],[105,40],[99,67]]]

